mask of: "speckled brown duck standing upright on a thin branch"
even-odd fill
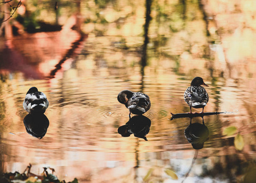
[[[208,85],[203,82],[202,77],[194,77],[191,81],[190,87],[188,87],[184,92],[184,100],[190,107],[190,113],[192,113],[192,107],[204,109],[209,101],[207,90],[205,90],[201,85],[208,87]],[[201,113],[203,113],[203,110]]]

